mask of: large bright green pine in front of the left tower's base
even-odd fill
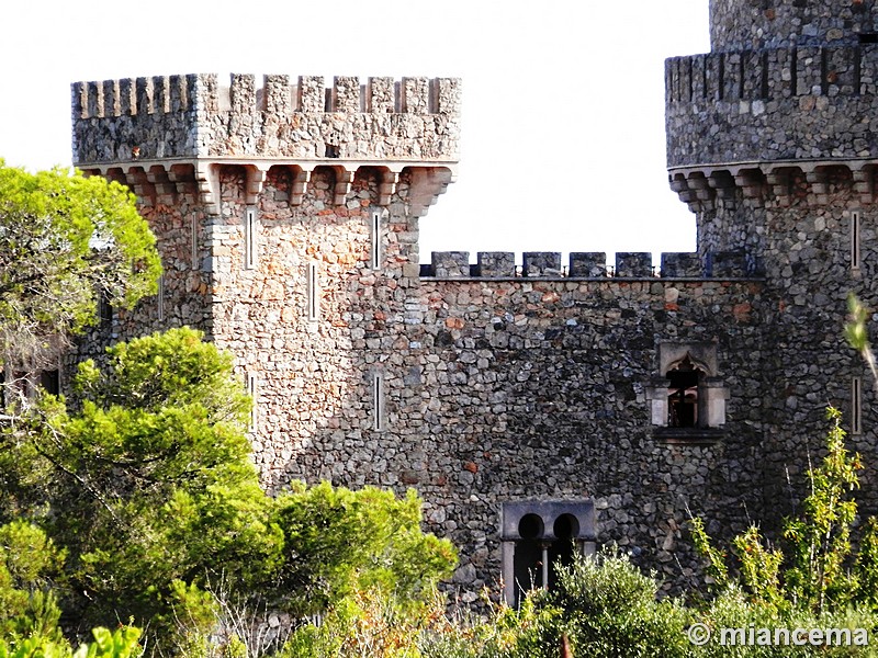
[[[50,534],[69,551],[67,601],[83,624],[170,623],[177,580],[264,581],[283,537],[244,434],[232,360],[191,329],[80,366],[77,407],[47,396],[27,440],[53,469]]]

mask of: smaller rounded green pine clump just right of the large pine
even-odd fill
[[[421,532],[413,490],[398,500],[372,487],[299,483],[278,497],[273,520],[285,537],[278,589],[293,593],[289,604],[301,614],[370,588],[417,603],[457,563],[450,542]]]

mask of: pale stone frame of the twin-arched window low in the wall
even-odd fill
[[[558,541],[554,524],[561,517],[571,515],[576,519],[578,529],[574,537],[576,549],[582,555],[594,555],[597,551],[597,531],[595,525],[595,503],[590,498],[571,500],[515,500],[500,503],[500,553],[503,565],[503,595],[508,605],[516,604],[516,593],[520,586],[515,579],[516,546],[525,541],[519,525],[525,517],[537,515],[542,522],[538,538],[547,543]],[[543,556],[548,553],[543,548]],[[544,558],[543,558],[544,559]],[[549,565],[543,561],[543,574]],[[545,585],[545,580],[543,580]]]

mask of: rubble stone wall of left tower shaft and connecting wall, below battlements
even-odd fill
[[[373,269],[381,177],[360,169],[338,205],[333,177],[317,168],[293,204],[289,168],[269,170],[255,206],[252,268],[245,167],[219,170],[219,217],[204,218],[185,196],[144,206],[175,292],[166,292],[161,321],[157,299],[114,321],[116,339],[201,326],[235,354],[241,383],[256,383],[251,440],[268,489],[294,478],[415,487],[427,529],[461,548],[452,586],[468,602],[482,586],[497,587],[505,502],[594,500],[599,543],[630,549],[639,564],[662,570],[668,588],[696,569],[684,540],[687,508],[719,535],[742,529],[745,510],[762,509],[767,347],[759,279],[706,279],[693,254],[666,254],[664,277],[652,274],[649,254],[617,257],[640,262],[638,277],[576,270],[606,259],[574,253],[561,275],[560,254],[537,252],[522,268],[529,276],[515,275],[511,261],[510,272],[495,270],[509,275],[492,277],[488,263],[508,259],[489,253],[480,254],[486,269],[475,276],[469,269],[461,275],[464,254],[451,259],[457,271],[446,264],[446,276],[426,269],[421,276],[408,175],[381,220]],[[205,223],[198,269],[188,232],[193,214]],[[316,319],[308,311],[312,265]],[[656,433],[648,389],[663,379],[663,342],[716,345],[731,397],[713,440],[675,443]]]

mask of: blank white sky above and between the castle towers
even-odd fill
[[[463,78],[458,182],[431,250],[687,251],[667,186],[664,58],[709,50],[708,0],[14,2],[0,158],[70,163],[75,80],[229,71]]]

